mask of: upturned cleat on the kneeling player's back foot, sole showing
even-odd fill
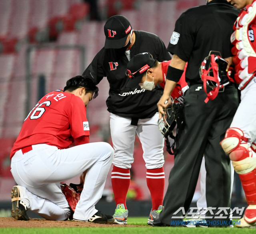
[[[12,217],[16,220],[29,220],[27,215],[28,207],[22,200],[20,200],[20,186],[14,186],[12,188]]]

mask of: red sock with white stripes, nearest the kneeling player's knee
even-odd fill
[[[126,195],[130,186],[130,169],[114,166],[111,173],[111,182],[116,206],[117,204],[124,204],[126,208]]]

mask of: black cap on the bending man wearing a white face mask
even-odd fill
[[[127,64],[126,75],[130,77],[126,87],[134,88],[136,87],[144,73],[150,68],[153,67],[155,59],[152,58],[150,53],[142,53],[133,56]]]

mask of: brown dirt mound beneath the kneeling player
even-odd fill
[[[0,217],[0,228],[68,228],[68,227],[145,227],[137,225],[119,224],[93,224],[88,222],[76,221],[50,221],[45,219],[31,218],[29,221],[16,220],[14,218]]]

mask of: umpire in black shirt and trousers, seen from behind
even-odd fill
[[[209,211],[206,213],[206,221],[209,221],[208,226],[228,226],[223,221],[229,222],[229,214],[216,214],[220,211],[219,207],[230,207],[230,159],[220,147],[220,141],[224,139],[238,107],[238,91],[230,84],[214,100],[205,103],[207,95],[199,69],[210,51],[218,51],[222,58],[230,61],[230,36],[238,13],[226,0],[208,0],[205,6],[184,12],[176,22],[167,48],[174,56],[168,67],[167,82],[164,94],[158,102],[158,110],[163,113],[163,107],[167,106],[165,102],[188,62],[186,81],[189,89],[184,94],[186,125],[170,172],[169,186],[163,202],[164,210],[160,213],[160,220],[156,220],[153,226],[180,226],[174,221],[183,218],[174,216],[182,217],[184,214],[181,210],[175,215],[174,213],[181,207],[184,207],[185,212],[188,211],[203,155],[207,173],[206,202],[208,207],[216,207],[213,215]],[[226,218],[218,218],[221,214]]]

